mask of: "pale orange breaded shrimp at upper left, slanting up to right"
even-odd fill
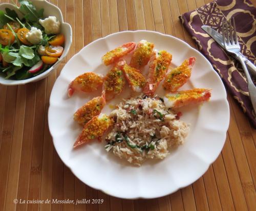
[[[121,57],[129,54],[135,49],[136,43],[135,42],[127,42],[123,45],[119,46],[118,48],[109,51],[102,57],[102,61],[105,65],[112,64],[117,62]]]

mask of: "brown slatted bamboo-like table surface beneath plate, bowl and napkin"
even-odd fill
[[[1,0],[0,3],[8,2]],[[125,30],[152,30],[176,36],[196,48],[179,14],[207,0],[51,0],[73,28],[65,61],[47,79],[0,86],[0,210],[255,210],[256,130],[228,96],[230,125],[224,148],[193,184],[151,200],[123,200],[79,181],[58,157],[48,129],[53,84],[63,65],[84,45]],[[256,0],[253,0],[256,5]],[[102,175],[104,176],[104,175]],[[102,204],[17,203],[51,199],[103,199]],[[20,202],[20,201],[19,201]]]

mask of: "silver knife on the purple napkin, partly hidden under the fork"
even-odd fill
[[[201,27],[208,35],[210,35],[212,37],[212,39],[214,39],[224,50],[224,44],[223,44],[223,38],[222,35],[220,33],[218,33],[216,30],[210,28],[209,26],[202,26]],[[244,56],[243,54],[239,53],[240,55],[242,55],[250,73],[256,77],[256,66],[249,61],[249,59]],[[234,57],[236,58],[236,57]],[[237,59],[237,58],[236,58]]]

